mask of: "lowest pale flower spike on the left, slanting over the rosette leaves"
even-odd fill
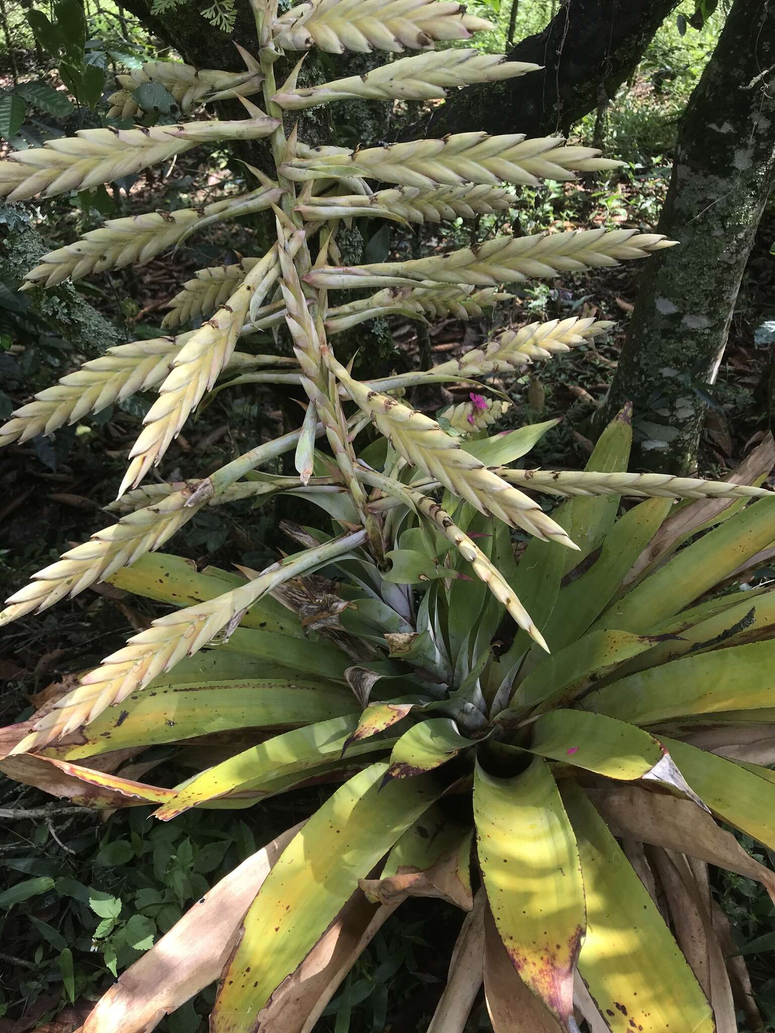
[[[365,538],[365,531],[335,538],[273,564],[253,581],[215,599],[158,618],[150,628],[132,635],[123,649],[89,671],[78,688],[59,699],[12,752],[39,748],[93,721],[106,707],[121,702],[130,692],[145,688],[158,675],[172,670],[183,657],[197,653],[219,632],[225,631],[227,638],[244,612],[267,592],[310,567],[357,549]]]

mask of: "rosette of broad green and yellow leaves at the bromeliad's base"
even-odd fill
[[[463,448],[544,491],[541,471],[507,464],[549,426]],[[630,441],[625,411],[572,482],[546,481],[571,496],[553,515],[580,552],[531,538],[515,559],[503,522],[452,493],[434,502],[382,440],[357,460],[391,536],[381,568],[365,531],[286,525],[289,576],[260,596],[267,572],[197,572],[172,555],[110,575],[183,607],[155,623],[156,641],[214,600],[255,601],[120,709],[0,770],[82,804],[153,804],[163,821],[334,785],[136,962],[85,1033],[150,1030],[214,979],[213,1029],[312,1030],[415,896],[466,912],[434,1033],[463,1030],[483,983],[495,1033],[737,1028],[707,866],[775,897],[775,875],[719,824],[775,848],[763,766],[775,757],[775,590],[738,587],[773,551],[772,500],[624,473]],[[761,480],[774,456],[766,442],[735,479]],[[331,458],[313,459],[306,489],[257,483],[355,526]],[[630,491],[651,497],[622,511]],[[698,498],[676,505],[677,491]],[[551,655],[512,618],[516,597]],[[208,737],[233,750],[178,786],[122,775],[146,748],[195,757]]]

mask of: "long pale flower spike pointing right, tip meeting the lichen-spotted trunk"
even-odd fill
[[[675,243],[660,233],[639,233],[637,229],[574,229],[517,239],[496,237],[475,250],[463,248],[429,258],[323,267],[308,273],[305,280],[316,287],[402,286],[414,280],[495,286],[527,277],[618,265],[623,259],[645,258],[652,251],[673,247]]]

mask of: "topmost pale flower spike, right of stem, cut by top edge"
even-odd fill
[[[329,54],[432,49],[434,40],[470,39],[493,26],[440,0],[317,0],[278,18],[274,41],[284,51],[317,46]]]

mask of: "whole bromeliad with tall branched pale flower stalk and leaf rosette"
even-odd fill
[[[231,84],[248,119],[85,130],[0,162],[3,192],[20,199],[111,181],[202,142],[270,140],[276,178],[256,171],[250,194],[204,213],[107,223],[47,255],[31,284],[148,259],[248,211],[272,207],[277,227],[266,254],[185,285],[168,324],[207,316],[200,328],[110,349],[0,431],[2,442],[25,440],[156,389],[110,507],[121,519],[35,575],[0,622],[101,580],[177,607],[14,726],[23,738],[2,770],[94,806],[153,803],[162,820],[344,780],[303,827],[237,869],[127,972],[86,1030],[148,1031],[216,978],[217,1033],[311,1030],[359,952],[412,894],[468,912],[433,1033],[462,1030],[483,979],[496,1031],[571,1033],[577,1015],[592,1030],[703,1033],[713,1014],[719,1030],[732,1029],[703,864],[760,878],[771,893],[775,882],[708,809],[775,846],[775,787],[751,762],[770,759],[767,733],[751,729],[772,720],[773,604],[767,592],[700,600],[772,546],[771,499],[749,504],[765,493],[746,484],[623,472],[626,412],[586,471],[526,470],[509,464],[550,425],[481,437],[468,433],[488,425],[475,393],[468,411],[443,417],[447,429],[390,394],[550,358],[606,322],[531,324],[429,373],[371,382],[354,379],[330,343],[375,314],[476,314],[502,296],[503,282],[644,257],[669,242],[596,229],[335,264],[342,220],[491,213],[509,205],[503,180],[568,179],[611,162],[555,138],[481,133],[352,153],[306,147],[296,129],[285,135],[286,112],[350,97],[443,97],[446,86],[533,66],[430,49],[486,27],[436,0],[320,0],[279,18],[256,2],[255,14],[258,59]],[[312,44],[428,52],[306,89],[297,68],[278,89],[276,59]],[[251,83],[268,114],[246,99]],[[227,88],[210,74],[191,102]],[[373,192],[368,180],[393,186]],[[330,306],[330,290],[364,286],[379,289]],[[280,323],[292,361],[236,350],[242,336]],[[302,427],[203,480],[142,484],[227,371],[239,371],[230,383],[300,384],[309,400]],[[362,448],[369,422],[381,436]],[[315,446],[323,436],[327,452]],[[257,472],[291,450],[297,476]],[[239,575],[152,555],[204,506],[278,492],[321,506],[335,534],[289,527],[298,552]],[[571,498],[550,516],[535,492]],[[647,501],[617,520],[622,494]],[[669,516],[676,498],[702,501]],[[519,565],[514,527],[531,536]],[[225,733],[231,755],[174,788],[118,771],[128,753],[160,743],[185,750],[213,733]],[[626,854],[614,834],[629,843]],[[648,854],[639,843],[650,844]],[[657,881],[687,960],[653,903]]]

